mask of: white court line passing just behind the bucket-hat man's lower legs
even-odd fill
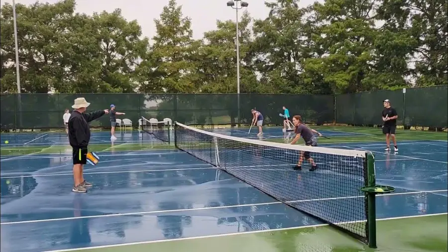
[[[411,160],[411,159],[416,159],[416,158],[379,159],[379,160],[375,160],[375,162],[399,161],[399,160]],[[356,161],[354,161],[354,162],[356,162]],[[337,163],[337,162],[331,162],[331,163]],[[317,163],[317,164],[324,164],[324,163]],[[191,165],[198,165],[198,164],[191,164]],[[258,167],[266,167],[266,166],[293,166],[293,165],[295,165],[295,164],[245,165],[245,166],[229,166],[229,167],[225,167],[225,169],[258,168]],[[174,164],[174,166],[176,166],[176,165]],[[183,171],[183,170],[200,170],[200,169],[219,169],[219,168],[211,165],[211,167],[199,167],[199,168],[150,169],[150,170],[130,170],[130,171],[101,171],[101,172],[84,172],[83,174],[109,174],[109,173],[155,172],[155,171]],[[241,170],[244,170],[244,169],[241,169]],[[255,170],[255,169],[247,169],[247,170]],[[263,169],[263,171],[265,171],[265,170],[266,169]],[[268,169],[268,170],[284,171],[284,169]],[[59,173],[59,174],[38,174],[38,175],[8,176],[8,177],[0,177],[0,178],[6,179],[6,178],[27,178],[27,177],[46,177],[46,176],[72,176],[72,175],[73,175],[73,173]]]

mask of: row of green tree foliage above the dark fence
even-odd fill
[[[254,3],[255,4],[255,3]],[[448,84],[446,0],[298,0],[240,15],[242,93],[337,94]],[[236,23],[193,39],[170,0],[156,35],[119,9],[75,13],[75,0],[16,5],[23,93],[236,93]],[[1,92],[16,92],[12,6],[1,19]]]

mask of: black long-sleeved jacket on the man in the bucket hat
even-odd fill
[[[74,110],[68,123],[70,145],[77,148],[86,148],[90,141],[90,126],[88,123],[104,114],[103,110],[92,113],[79,113]]]

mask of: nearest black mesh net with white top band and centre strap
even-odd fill
[[[180,123],[174,138],[177,148],[368,243],[369,201],[360,188],[370,174],[369,152],[239,138]],[[304,161],[301,171],[294,170],[300,153],[310,154],[318,169],[309,171]]]

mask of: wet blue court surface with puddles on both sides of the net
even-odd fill
[[[246,129],[214,131],[248,137]],[[265,137],[279,135],[278,128],[265,129]],[[110,143],[107,132],[92,136],[97,143]],[[67,144],[60,133],[1,135],[2,142],[3,137],[13,146]],[[145,141],[138,132],[124,137],[122,133],[118,141]],[[385,153],[384,142],[323,146],[373,151],[377,182],[396,188],[377,197],[377,219],[447,213],[447,141],[400,141],[398,154]],[[321,224],[179,150],[98,154],[97,166],[85,166],[85,179],[94,184],[86,194],[71,191],[71,153],[1,156],[1,251],[78,249]]]

